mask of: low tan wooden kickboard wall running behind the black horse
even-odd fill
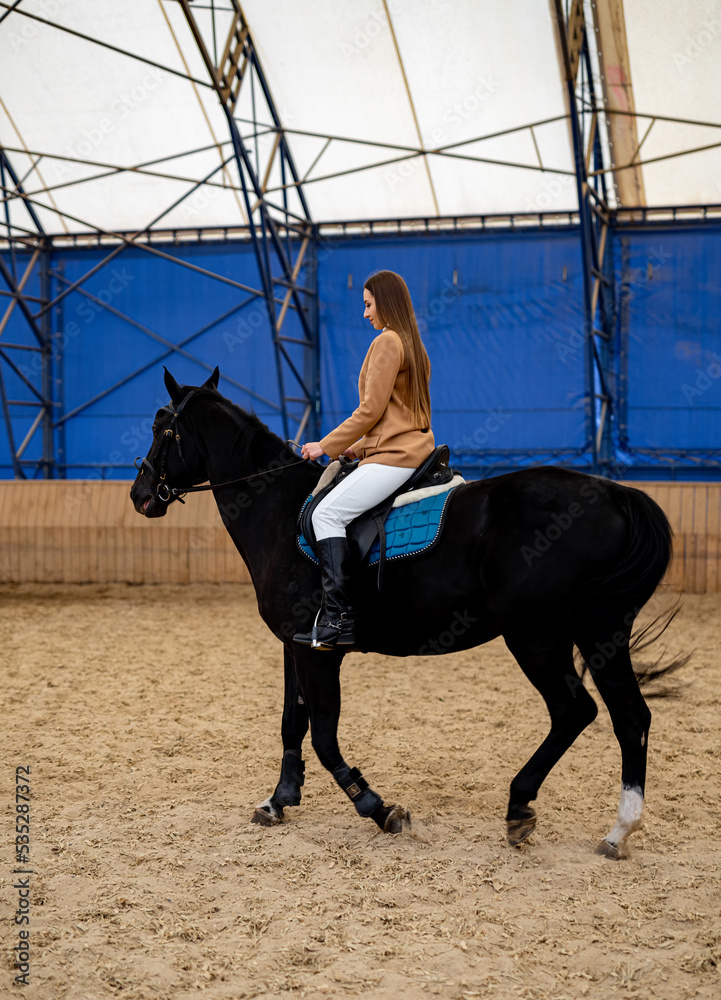
[[[629,483],[666,511],[686,593],[721,590],[721,483]],[[249,583],[210,493],[163,518],[136,514],[130,483],[0,481],[2,583]]]

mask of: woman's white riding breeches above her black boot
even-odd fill
[[[354,518],[389,497],[415,471],[373,462],[359,465],[313,511],[315,537],[337,538],[345,535],[346,526]]]

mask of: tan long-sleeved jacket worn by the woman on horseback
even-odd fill
[[[435,448],[433,432],[423,432],[408,409],[408,364],[401,338],[384,330],[368,348],[358,379],[360,404],[320,441],[326,455],[338,458],[352,447],[366,462],[416,469]]]

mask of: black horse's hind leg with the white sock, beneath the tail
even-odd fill
[[[613,829],[598,853],[616,860],[627,857],[629,834],[641,826],[646,787],[646,755],[651,712],[641,694],[628,650],[628,628],[581,640],[578,648],[606,703],[621,747],[621,801]]]

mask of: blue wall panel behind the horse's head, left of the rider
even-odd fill
[[[107,252],[62,254],[58,267],[74,282]],[[197,267],[251,287],[258,285],[255,258],[246,245],[170,251],[163,247],[163,252],[178,254]],[[256,395],[221,378],[223,393],[255,408],[280,430],[277,409],[264,402],[277,400],[278,387],[262,300],[254,299],[242,310],[221,318],[248,294],[142,250],[124,251],[84,282],[82,289],[64,300],[65,346],[62,371],[57,372],[62,381],[63,413],[69,416],[64,439],[60,438],[59,457],[67,464],[69,475],[88,475],[98,465],[104,467],[103,474],[125,478],[131,474],[133,459],[149,447],[152,416],[167,402],[163,365],[181,383],[205,381],[208,369],[173,352],[170,345],[184,345],[184,350],[206,365],[218,364],[223,376],[252,388]],[[113,470],[111,466],[121,468]]]

